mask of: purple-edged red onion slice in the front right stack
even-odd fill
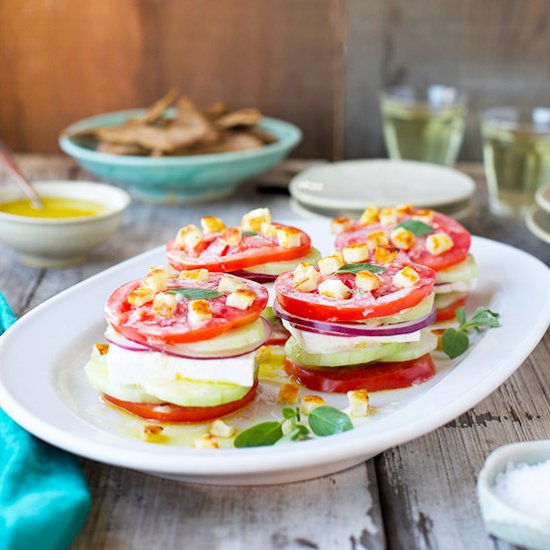
[[[381,325],[379,327],[366,327],[360,323],[328,323],[295,317],[282,309],[277,300],[273,303],[273,311],[275,315],[288,321],[293,327],[299,330],[325,334],[327,336],[397,336],[399,334],[409,334],[434,323],[437,315],[434,306],[428,315],[420,319],[405,323]]]

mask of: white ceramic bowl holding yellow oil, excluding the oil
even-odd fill
[[[103,183],[34,183],[42,197],[89,200],[105,206],[101,214],[78,218],[32,218],[0,212],[0,242],[21,253],[32,267],[60,268],[82,262],[118,229],[130,203],[125,191]],[[13,186],[0,189],[0,203],[23,198]]]

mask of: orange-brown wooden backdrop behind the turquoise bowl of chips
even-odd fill
[[[332,157],[342,2],[5,0],[0,132],[17,150],[55,151],[69,123],[176,86],[200,104],[223,99],[294,122],[299,153]]]

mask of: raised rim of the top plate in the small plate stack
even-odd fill
[[[454,204],[456,202],[464,201],[469,199],[475,191],[475,181],[459,170],[454,168],[449,168],[447,166],[439,166],[434,164],[429,164],[425,162],[418,162],[412,160],[390,160],[390,159],[353,159],[353,160],[343,160],[333,163],[321,164],[307,168],[306,170],[296,174],[292,178],[289,184],[289,191],[292,197],[295,197],[297,200],[304,204],[311,204],[312,206],[317,206],[319,208],[334,208],[334,209],[347,209],[347,210],[358,210],[357,200],[346,200],[335,201],[334,198],[324,198],[322,196],[315,196],[312,194],[303,195],[301,190],[298,188],[298,185],[301,181],[315,179],[317,176],[310,176],[310,174],[316,174],[319,171],[323,170],[334,170],[338,169],[340,166],[347,167],[353,164],[365,164],[365,165],[380,165],[384,167],[391,167],[399,164],[402,167],[407,168],[408,170],[432,170],[434,172],[438,171],[442,175],[452,175],[453,178],[460,178],[465,184],[465,190],[461,195],[455,195],[452,198],[448,199],[439,199],[431,200],[426,204],[419,204],[419,206],[426,208],[438,208],[442,206],[447,206]],[[415,202],[415,201],[411,201]],[[386,206],[386,204],[377,204],[376,201],[371,201],[375,206]]]

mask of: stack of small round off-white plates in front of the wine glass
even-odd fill
[[[401,160],[348,160],[304,170],[290,182],[291,206],[306,218],[358,218],[369,205],[414,204],[461,218],[472,178],[451,168]]]

